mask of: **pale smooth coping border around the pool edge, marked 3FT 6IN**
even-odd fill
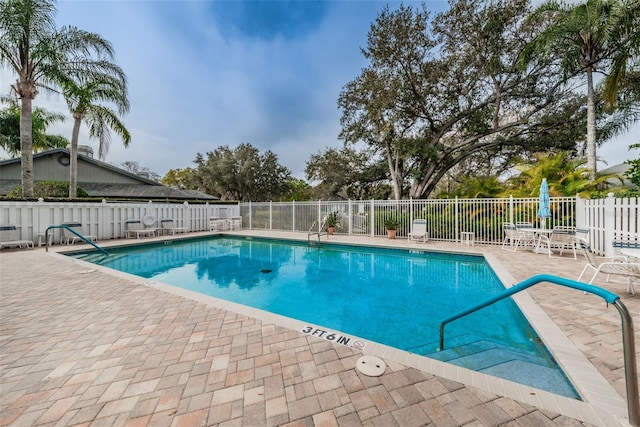
[[[228,234],[230,236],[247,236],[262,239],[273,240],[291,240],[296,242],[304,242],[305,239],[294,234],[286,238],[276,236],[265,236],[260,233],[251,233],[245,230],[242,233],[217,233]],[[183,240],[199,237],[213,236],[210,233],[202,235],[187,236],[164,236],[160,240]],[[140,240],[106,242],[104,247],[132,246],[141,243],[154,243],[157,240]],[[323,244],[340,244],[349,246],[369,246],[390,249],[415,249],[415,246],[398,246],[398,245],[382,245],[378,242],[349,242],[349,241],[323,241]],[[516,284],[513,275],[506,269],[497,258],[490,253],[481,252],[477,247],[461,247],[460,250],[444,250],[438,248],[422,248],[424,252],[452,253],[463,255],[476,255],[484,257],[505,288]],[[81,250],[84,252],[84,248]],[[80,263],[86,265],[89,269],[100,270],[106,274],[111,274],[121,278],[125,278],[137,285],[143,285],[154,288],[173,295],[181,296],[201,302],[207,305],[218,307],[227,311],[235,312],[244,316],[252,317],[263,322],[272,323],[281,327],[285,327],[299,333],[303,333],[303,329],[307,326],[322,329],[322,326],[313,325],[309,322],[302,322],[296,319],[277,315],[260,309],[244,306],[230,301],[222,300],[216,297],[206,296],[197,292],[182,289],[166,283],[144,279],[129,273],[120,272],[97,264],[86,262],[76,258],[70,258],[66,254],[78,252],[78,248],[57,247],[54,252],[50,252],[52,256],[59,256],[67,262]],[[527,320],[539,333],[540,338],[547,346],[556,361],[561,366],[565,374],[569,377],[574,387],[583,397],[584,401],[571,399],[554,393],[540,390],[534,387],[525,386],[520,383],[504,380],[491,375],[475,372],[466,368],[461,368],[446,362],[430,359],[425,356],[409,353],[384,344],[376,343],[360,337],[354,337],[351,334],[343,334],[354,339],[366,342],[366,346],[362,349],[363,354],[378,356],[386,360],[400,363],[407,367],[419,369],[439,377],[457,381],[462,384],[473,386],[478,389],[494,393],[496,395],[505,396],[526,404],[530,404],[542,409],[553,411],[583,422],[593,425],[610,426],[612,424],[628,425],[626,421],[627,406],[625,400],[614,390],[611,384],[602,376],[602,374],[589,362],[586,356],[579,351],[573,342],[562,332],[562,330],[553,322],[547,313],[533,300],[526,292],[520,292],[512,297],[520,307],[522,313]],[[341,333],[340,331],[335,331]]]

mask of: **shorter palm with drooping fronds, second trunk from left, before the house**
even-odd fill
[[[95,73],[83,73],[62,83],[63,93],[69,110],[73,115],[71,150],[69,163],[69,198],[76,197],[78,184],[78,135],[84,121],[89,127],[89,137],[98,138],[100,145],[98,156],[104,159],[111,142],[109,128],[122,137],[124,146],[131,142],[131,135],[118,118],[118,114],[129,111],[126,76],[117,65],[104,62],[101,70]],[[113,103],[117,112],[100,104]]]

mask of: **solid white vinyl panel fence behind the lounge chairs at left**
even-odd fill
[[[172,219],[176,227],[189,231],[209,230],[209,218],[239,216],[237,204],[189,203],[66,203],[0,202],[0,224],[13,224],[20,238],[44,242],[44,232],[51,225],[80,222],[85,234],[99,240],[125,237],[125,222],[139,219],[148,228],[160,228],[160,220]],[[52,229],[53,242],[60,241],[60,229]]]

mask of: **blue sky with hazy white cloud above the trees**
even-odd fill
[[[418,2],[407,2],[415,3]],[[248,142],[273,151],[294,176],[326,147],[338,147],[342,87],[367,65],[360,49],[383,1],[61,1],[59,25],[96,32],[113,43],[129,81],[123,121],[129,148],[113,135],[106,161],[163,176],[193,166],[221,145]],[[399,3],[389,3],[395,8]],[[446,1],[427,1],[429,10]],[[0,72],[0,93],[14,78]],[[34,101],[66,112],[62,99]],[[50,128],[71,136],[72,122]],[[609,165],[630,158],[635,132],[599,151]],[[80,143],[93,147],[83,126]]]

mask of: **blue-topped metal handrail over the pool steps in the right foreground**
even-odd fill
[[[454,314],[440,322],[440,351],[444,349],[444,325],[456,319],[471,314],[481,308],[487,307],[497,301],[507,298],[513,294],[537,285],[541,282],[549,282],[556,285],[566,286],[568,288],[578,289],[583,292],[598,295],[607,303],[612,304],[620,313],[622,319],[622,351],[624,354],[624,373],[625,382],[627,384],[627,411],[629,414],[629,424],[634,427],[640,427],[640,402],[638,401],[638,378],[636,367],[636,349],[633,332],[633,318],[627,307],[622,303],[620,297],[606,289],[597,286],[588,285],[586,283],[577,282],[575,280],[565,279],[563,277],[552,276],[550,274],[539,274],[530,277],[517,285],[493,296],[475,306]]]

